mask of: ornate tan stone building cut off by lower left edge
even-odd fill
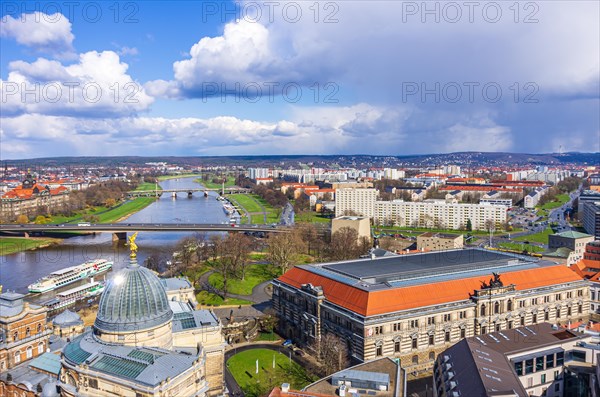
[[[47,309],[24,298],[16,292],[0,294],[0,372],[48,349],[52,331],[47,327]]]

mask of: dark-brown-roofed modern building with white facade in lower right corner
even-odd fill
[[[591,339],[547,322],[463,339],[437,357],[433,395],[594,395]]]

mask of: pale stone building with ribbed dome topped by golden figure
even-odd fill
[[[131,260],[108,282],[91,331],[63,349],[61,396],[223,395],[224,340],[208,310],[167,299],[161,280]]]

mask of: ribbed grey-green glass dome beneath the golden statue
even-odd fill
[[[108,282],[94,327],[106,332],[156,328],[173,319],[167,293],[158,277],[135,259]]]

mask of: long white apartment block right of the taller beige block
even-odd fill
[[[461,229],[471,220],[473,230],[486,230],[491,219],[499,226],[507,220],[506,206],[494,204],[461,204],[444,200],[409,202],[376,201],[374,222],[383,225]]]

